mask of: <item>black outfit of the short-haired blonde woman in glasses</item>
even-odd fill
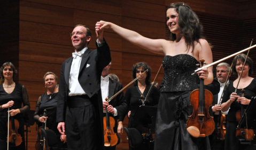
[[[46,120],[46,127],[53,130],[57,135],[58,144],[55,146],[55,149],[66,148],[66,144],[60,141],[60,133],[57,129],[56,122],[56,109],[57,109],[57,101],[58,101],[58,93],[47,94],[44,93],[41,95],[36,102],[36,109],[34,114],[34,119],[38,125],[38,127],[42,126],[42,122],[39,122],[38,119],[43,116],[44,110],[46,110],[46,116],[48,116]]]

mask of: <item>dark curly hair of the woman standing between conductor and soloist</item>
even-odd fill
[[[148,72],[146,72],[146,80],[145,80],[145,82],[146,82],[146,85],[150,85],[150,80],[151,80],[151,68],[150,68],[150,66],[149,66],[147,63],[145,63],[145,62],[139,62],[139,63],[136,63],[136,64],[133,65],[133,72],[131,72],[131,74],[133,74],[133,79],[136,78],[136,71],[137,71],[137,69],[139,69],[139,68],[143,68],[144,70],[147,70],[147,69],[149,70]],[[137,80],[134,81],[133,84],[134,84],[135,86],[137,86],[137,85],[138,85],[138,81],[137,81]]]

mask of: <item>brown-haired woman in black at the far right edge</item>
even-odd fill
[[[241,145],[239,140],[236,138],[236,128],[238,125],[238,122],[236,121],[236,112],[241,110],[241,107],[246,110],[251,98],[256,96],[256,79],[250,77],[253,72],[253,61],[250,57],[247,57],[244,71],[241,74],[245,57],[245,54],[238,54],[235,56],[232,62],[232,72],[237,79],[227,87],[222,98],[221,110],[224,112],[230,107],[227,118],[225,149],[256,149],[255,145]],[[241,80],[239,81],[239,85],[237,87],[240,76]],[[236,87],[237,91],[234,93]],[[238,96],[242,93],[242,89],[245,90],[244,97]]]

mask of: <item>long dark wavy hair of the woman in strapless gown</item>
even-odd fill
[[[175,9],[179,14],[178,24],[181,30],[181,36],[184,37],[187,46],[186,51],[192,46],[192,52],[195,48],[194,41],[199,42],[203,38],[203,25],[199,22],[198,16],[191,10],[189,5],[184,3],[172,3],[167,7],[168,9]],[[176,34],[170,33],[170,40],[176,40]]]

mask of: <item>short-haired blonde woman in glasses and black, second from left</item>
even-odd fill
[[[59,142],[56,147],[63,148],[64,145],[61,141],[66,140],[66,135],[60,135],[57,129],[58,124],[56,122],[57,94],[59,91],[57,88],[56,74],[53,72],[45,73],[44,84],[47,91],[37,99],[34,119],[38,124],[38,127],[41,127],[46,119],[46,127],[53,130],[57,135]],[[43,116],[44,110],[46,110],[46,117]]]

